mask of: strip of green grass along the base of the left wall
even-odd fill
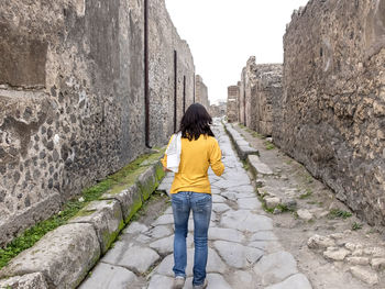
[[[135,160],[131,162],[116,174],[107,177],[90,188],[84,189],[80,196],[67,201],[64,204],[63,210],[57,214],[25,230],[4,248],[0,248],[0,269],[7,266],[8,263],[21,252],[32,247],[46,233],[66,224],[69,219],[78,214],[89,202],[98,200],[108,190],[113,191],[116,187],[120,187],[123,184],[134,184],[138,176],[154,162],[160,159],[163,154],[164,149],[160,149],[157,153],[139,156]]]

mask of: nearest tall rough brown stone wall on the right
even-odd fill
[[[385,0],[311,0],[284,36],[278,145],[385,224]]]

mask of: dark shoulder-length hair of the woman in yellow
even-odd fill
[[[198,140],[201,134],[215,136],[210,124],[212,119],[205,107],[200,103],[193,103],[188,107],[180,121],[182,137],[189,141]]]

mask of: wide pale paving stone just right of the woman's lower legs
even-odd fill
[[[246,247],[238,243],[216,241],[213,246],[218,251],[222,259],[231,267],[246,268],[257,262],[263,251],[254,247]]]

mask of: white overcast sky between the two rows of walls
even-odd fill
[[[165,0],[182,38],[193,52],[196,73],[209,99],[227,99],[249,56],[282,63],[283,35],[295,9],[308,0]]]

